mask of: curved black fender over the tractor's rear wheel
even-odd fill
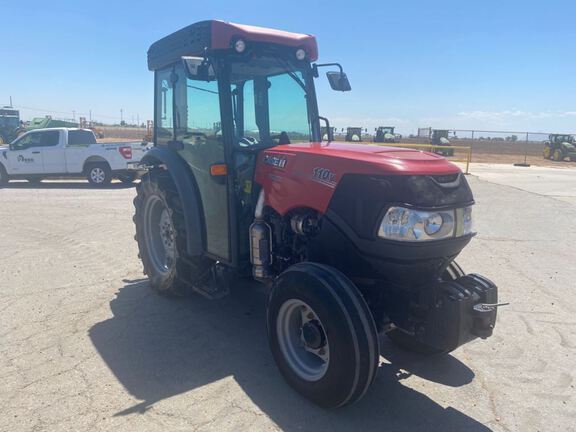
[[[141,160],[145,165],[166,166],[166,170],[172,176],[180,202],[184,212],[184,224],[186,225],[186,249],[192,256],[202,255],[206,250],[206,230],[202,209],[200,208],[199,192],[194,174],[173,150],[163,147],[150,149]],[[198,236],[196,233],[200,233]]]

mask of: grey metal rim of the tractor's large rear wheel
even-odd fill
[[[168,273],[176,256],[176,236],[169,210],[158,196],[152,196],[146,202],[144,230],[152,265],[158,273]]]

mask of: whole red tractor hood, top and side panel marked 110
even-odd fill
[[[255,180],[264,188],[266,204],[280,214],[300,207],[324,213],[345,176],[442,177],[451,182],[460,181],[459,174],[456,165],[433,153],[328,142],[286,144],[262,151]]]

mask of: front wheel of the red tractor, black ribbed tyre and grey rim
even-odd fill
[[[338,270],[299,263],[274,283],[268,341],[280,372],[298,393],[326,408],[360,399],[380,357],[372,314]]]

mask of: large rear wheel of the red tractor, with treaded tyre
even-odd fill
[[[150,286],[165,295],[191,293],[193,285],[210,276],[214,261],[186,253],[184,214],[170,174],[152,170],[136,191],[135,239]]]

